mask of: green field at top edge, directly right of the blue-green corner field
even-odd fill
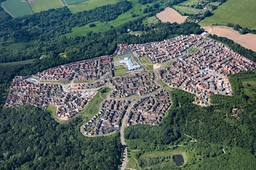
[[[59,0],[38,0],[30,2],[29,5],[34,13],[62,7]]]

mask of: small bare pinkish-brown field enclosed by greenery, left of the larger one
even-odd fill
[[[164,11],[159,12],[156,14],[156,17],[161,20],[162,22],[177,22],[182,23],[184,22],[188,16],[182,16],[177,11],[173,10],[170,7],[166,7]]]

